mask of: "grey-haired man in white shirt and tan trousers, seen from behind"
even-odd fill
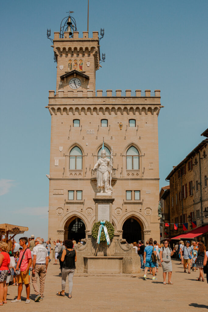
[[[35,302],[43,300],[44,284],[46,279],[46,272],[48,267],[48,251],[42,245],[41,237],[35,239],[35,247],[33,248],[32,261],[32,286],[35,290]],[[37,285],[37,276],[40,280],[40,290]]]

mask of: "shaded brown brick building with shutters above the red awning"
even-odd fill
[[[201,135],[206,139],[173,167],[166,178],[170,181],[169,222],[179,224],[177,231],[171,224],[171,236],[183,232],[180,223],[188,222],[188,231],[192,230],[191,221],[196,221],[197,227],[208,224],[208,217],[205,217],[208,211],[208,129]]]

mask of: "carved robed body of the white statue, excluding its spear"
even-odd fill
[[[99,166],[99,167],[98,167]],[[101,158],[98,159],[94,165],[93,170],[97,168],[97,188],[100,193],[108,193],[109,172],[110,172],[110,159],[106,157],[105,149],[102,149]]]

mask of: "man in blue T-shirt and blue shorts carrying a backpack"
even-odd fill
[[[146,274],[149,268],[152,268],[152,280],[157,280],[157,278],[155,277],[156,262],[157,262],[157,251],[155,249],[155,246],[153,246],[152,239],[149,239],[149,245],[146,246],[144,249],[143,263],[145,263],[145,270],[143,280],[147,280]]]

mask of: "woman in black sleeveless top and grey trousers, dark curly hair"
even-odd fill
[[[75,262],[77,260],[76,251],[73,249],[73,241],[66,240],[63,241],[66,249],[63,250],[61,261],[63,262],[62,270],[61,270],[61,286],[62,291],[58,291],[57,295],[64,296],[65,295],[65,286],[66,286],[66,277],[68,275],[69,280],[69,298],[72,297],[72,286],[73,286],[73,275],[75,273]]]

